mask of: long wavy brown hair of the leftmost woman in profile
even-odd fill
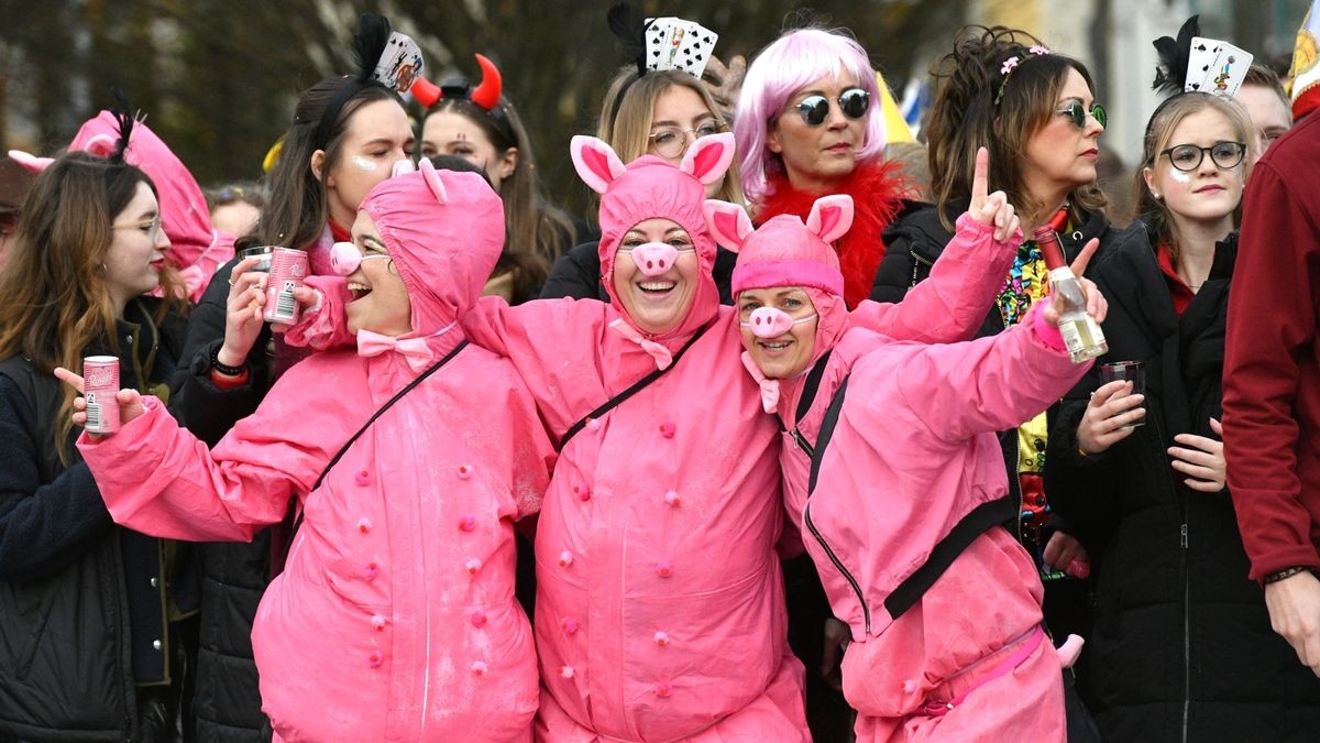
[[[22,356],[38,372],[82,369],[83,353],[99,340],[119,352],[115,308],[106,287],[106,253],[115,218],[137,194],[156,185],[140,169],[86,152],[70,152],[37,176],[22,204],[13,253],[0,272],[0,358]],[[161,271],[164,319],[182,282],[169,264]],[[63,402],[54,426],[59,460],[67,463],[75,393],[61,385]],[[40,411],[38,411],[40,412]]]

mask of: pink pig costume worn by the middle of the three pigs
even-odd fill
[[[537,738],[808,740],[775,550],[779,431],[735,361],[738,317],[718,304],[702,215],[705,184],[723,176],[733,136],[697,140],[680,168],[649,156],[624,167],[594,137],[574,137],[572,151],[602,194],[611,303],[508,308],[486,297],[463,324],[474,342],[512,358],[561,440],[648,373],[667,372],[562,446],[536,535]],[[612,280],[624,234],[656,217],[688,231],[700,262],[692,309],[660,336],[623,311]],[[858,316],[900,337],[964,337],[1012,259],[985,246],[954,246],[952,268],[913,290],[903,312],[869,303]],[[648,243],[632,258],[660,274],[677,255]]]

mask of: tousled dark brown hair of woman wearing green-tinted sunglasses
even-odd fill
[[[1026,186],[1023,152],[1027,141],[1049,123],[1068,70],[1077,70],[1092,94],[1096,85],[1086,66],[1063,54],[1032,54],[1040,40],[1005,26],[965,26],[931,74],[940,82],[927,123],[931,156],[931,192],[940,221],[953,229],[957,214],[950,202],[972,197],[977,149],[990,151],[990,188],[1005,192],[1023,215],[1035,215],[1040,204]],[[1003,63],[1018,57],[1008,77]],[[998,99],[998,103],[997,103]],[[1105,206],[1096,184],[1074,189],[1069,202],[1088,212]]]

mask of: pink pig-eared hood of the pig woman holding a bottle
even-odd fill
[[[706,201],[704,212],[715,241],[738,254],[733,275],[735,303],[739,292],[744,290],[803,287],[807,291],[818,317],[816,348],[812,349],[810,358],[810,364],[816,364],[849,329],[847,305],[843,304],[843,274],[840,270],[838,253],[832,243],[847,234],[853,226],[853,197],[836,194],[818,198],[805,223],[796,215],[780,214],[756,230],[752,230],[747,212],[735,204],[710,200]],[[774,336],[787,332],[792,324],[791,320],[783,323],[788,316],[779,309],[762,308],[756,312],[767,319],[783,316],[779,317],[780,323],[775,324],[779,332]],[[767,412],[775,411],[780,399],[780,385],[796,383],[789,379],[766,379],[746,352],[743,352],[743,366],[760,383]]]

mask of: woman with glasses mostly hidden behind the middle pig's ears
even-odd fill
[[[614,148],[623,163],[643,155],[655,155],[677,165],[694,141],[727,131],[719,107],[706,85],[680,70],[638,71],[636,65],[619,70],[610,82],[597,137]],[[743,202],[737,163],[725,177],[706,186],[706,196]],[[550,268],[541,290],[541,299],[573,297],[610,301],[601,283],[598,243],[590,242],[570,250]],[[733,304],[729,280],[735,256],[719,249],[715,254],[713,275],[719,290],[721,304]]]

